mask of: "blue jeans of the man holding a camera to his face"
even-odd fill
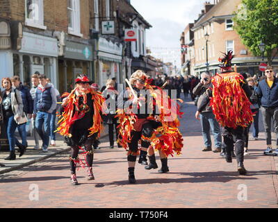
[[[211,148],[211,133],[213,133],[214,144],[216,148],[221,148],[222,137],[220,132],[220,126],[216,121],[213,112],[202,112],[200,114],[202,134],[204,139],[204,146]]]

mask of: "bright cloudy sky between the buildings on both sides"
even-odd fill
[[[206,0],[208,1],[208,0]],[[204,9],[205,0],[131,0],[131,5],[152,28],[146,31],[146,46],[152,56],[181,67],[180,37]],[[213,1],[211,1],[213,3]]]

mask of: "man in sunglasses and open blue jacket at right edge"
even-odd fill
[[[261,99],[261,113],[263,115],[263,126],[265,128],[265,137],[267,148],[263,152],[265,155],[278,155],[278,79],[275,78],[271,66],[265,67],[264,80],[259,82],[257,89],[259,99]],[[275,151],[272,151],[271,144],[271,121],[274,120],[276,135]]]

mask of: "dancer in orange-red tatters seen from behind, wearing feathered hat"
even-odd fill
[[[221,74],[216,74],[211,80],[213,89],[208,89],[211,97],[211,107],[215,119],[224,127],[222,133],[223,145],[226,150],[226,161],[232,162],[232,153],[235,147],[238,173],[247,173],[243,165],[245,128],[252,123],[252,111],[250,109],[250,96],[252,92],[242,75],[232,71],[231,60],[233,52],[224,53],[219,58]],[[205,105],[205,103],[204,103]]]

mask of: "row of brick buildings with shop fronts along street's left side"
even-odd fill
[[[114,33],[103,33],[106,21],[114,22]],[[113,77],[123,83],[132,59],[145,56],[150,27],[128,0],[2,0],[0,78],[19,75],[30,86],[38,71],[60,92],[70,91],[79,73],[99,85]],[[124,28],[140,30],[140,41],[124,42]]]

